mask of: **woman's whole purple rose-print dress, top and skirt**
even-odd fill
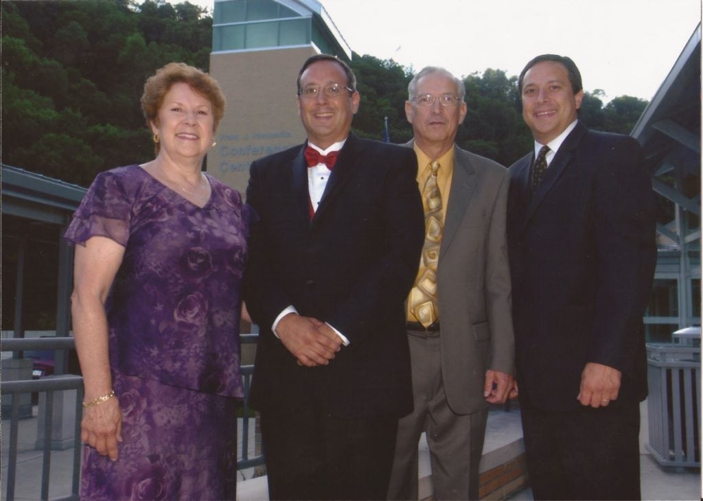
[[[124,442],[115,463],[86,447],[86,499],[234,492],[240,286],[255,216],[239,193],[207,179],[212,196],[201,208],[136,165],[103,172],[65,234],[125,247],[105,304]]]

